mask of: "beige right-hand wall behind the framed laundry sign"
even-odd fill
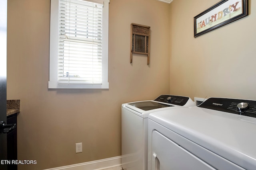
[[[171,3],[171,94],[256,100],[256,2],[248,1],[249,16],[197,38],[194,16],[219,0]]]

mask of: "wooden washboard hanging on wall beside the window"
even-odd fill
[[[132,63],[132,53],[145,54],[148,56],[149,64],[150,47],[150,27],[131,23],[131,53],[130,63]]]

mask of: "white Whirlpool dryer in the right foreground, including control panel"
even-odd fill
[[[256,101],[158,111],[148,131],[148,170],[256,170]]]

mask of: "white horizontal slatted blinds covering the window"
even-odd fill
[[[102,84],[103,1],[89,1],[59,0],[60,84]]]

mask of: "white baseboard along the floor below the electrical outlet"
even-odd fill
[[[50,168],[45,170],[104,170],[104,169],[115,168],[115,167],[120,167],[120,169],[122,169],[121,157],[122,156],[116,156],[112,158],[94,160],[91,162],[61,166],[61,167]]]

